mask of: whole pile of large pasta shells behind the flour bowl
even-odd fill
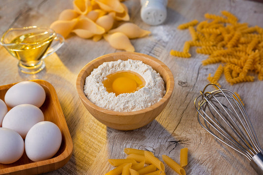
[[[117,21],[129,21],[130,16],[128,13],[128,8],[123,0],[73,0],[73,9],[63,10],[58,17],[58,20],[50,25],[56,33],[67,37],[70,33],[74,33],[76,36],[81,38],[89,39],[92,38],[93,41],[98,41],[103,38],[104,34],[107,34],[113,27],[118,23]],[[122,27],[125,27],[122,26]],[[110,32],[113,33],[125,33],[123,35],[106,35],[106,37],[111,38],[110,43],[114,45],[114,48],[122,50],[134,51],[134,47],[131,46],[129,38],[144,37],[150,34],[150,31],[140,29],[135,24],[129,24],[128,29],[119,30],[115,29]],[[118,37],[121,36],[124,41],[120,41]],[[116,38],[117,41],[113,41]],[[126,43],[124,46],[118,46],[117,42]]]

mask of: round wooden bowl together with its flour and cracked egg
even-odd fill
[[[91,115],[117,130],[150,123],[167,105],[173,88],[173,74],[164,63],[136,52],[98,57],[85,65],[76,79],[79,98]]]

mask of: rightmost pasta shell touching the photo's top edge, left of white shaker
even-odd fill
[[[122,13],[124,11],[123,6],[119,0],[95,0],[96,3],[105,11],[115,11]]]

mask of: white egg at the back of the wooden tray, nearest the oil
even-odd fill
[[[11,108],[21,104],[31,104],[40,107],[43,105],[45,98],[45,90],[38,83],[22,81],[7,90],[4,101]]]

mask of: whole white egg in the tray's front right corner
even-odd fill
[[[49,121],[39,122],[26,136],[26,154],[35,162],[50,159],[59,150],[61,141],[61,131],[56,124]]]

